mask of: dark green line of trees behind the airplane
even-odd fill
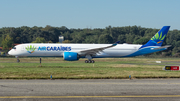
[[[120,43],[145,44],[159,29],[141,26],[125,26],[106,28],[68,29],[65,26],[52,27],[3,27],[0,28],[0,46],[8,50],[13,43],[57,43],[60,35],[64,36],[63,43]],[[163,45],[172,45],[168,50],[154,53],[161,56],[180,56],[180,31],[169,31]]]

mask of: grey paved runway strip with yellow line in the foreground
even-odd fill
[[[180,79],[0,80],[0,101],[179,101]]]

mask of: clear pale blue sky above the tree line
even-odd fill
[[[180,30],[180,0],[0,0],[0,28],[171,26]]]

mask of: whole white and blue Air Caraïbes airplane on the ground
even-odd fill
[[[14,46],[8,54],[27,57],[63,57],[67,61],[87,58],[85,63],[94,63],[93,58],[134,57],[166,50],[171,45],[162,46],[170,26],[163,26],[145,45],[137,44],[59,44],[26,43]]]

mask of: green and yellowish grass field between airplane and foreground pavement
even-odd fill
[[[64,61],[62,58],[0,58],[0,79],[124,79],[179,78],[179,71],[164,71],[165,65],[180,64],[178,58],[103,58],[96,63]],[[155,61],[162,61],[157,64]]]

